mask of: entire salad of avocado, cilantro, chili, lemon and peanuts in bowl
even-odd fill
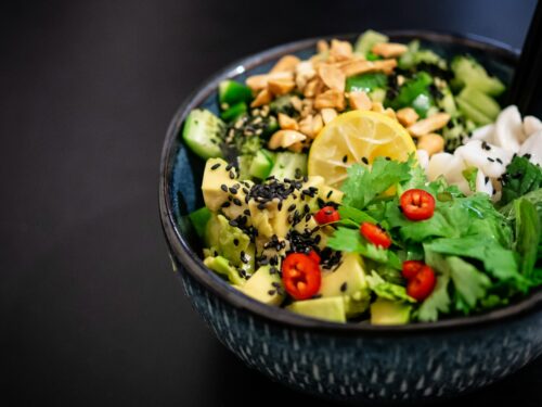
[[[503,82],[376,31],[218,88],[182,138],[205,161],[204,264],[335,322],[437,321],[542,284],[542,123]]]

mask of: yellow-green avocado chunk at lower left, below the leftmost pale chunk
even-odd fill
[[[210,253],[217,252],[248,276],[253,274],[254,243],[243,230],[231,226],[223,215],[211,215],[207,221],[205,238]]]

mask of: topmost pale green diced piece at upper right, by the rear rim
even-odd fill
[[[468,86],[482,93],[496,97],[504,91],[503,82],[493,76],[472,56],[456,56],[452,61],[452,71],[461,86]]]

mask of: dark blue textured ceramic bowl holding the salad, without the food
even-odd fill
[[[434,33],[388,33],[393,41],[420,38],[444,55],[468,52],[509,82],[517,51],[480,38]],[[354,35],[337,36],[353,40]],[[485,315],[435,323],[378,327],[339,325],[256,302],[202,263],[185,215],[202,206],[204,163],[179,131],[197,106],[217,112],[217,86],[267,72],[283,54],[308,58],[318,39],[246,58],[199,87],[179,109],[162,154],[160,217],[175,270],[217,338],[249,367],[291,387],[337,400],[422,400],[456,395],[494,382],[542,353],[542,292]]]

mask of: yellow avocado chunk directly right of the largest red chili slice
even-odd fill
[[[354,317],[369,308],[371,292],[365,280],[363,259],[357,253],[343,254],[343,263],[335,271],[322,274],[319,292],[323,297],[344,296],[347,317]]]

